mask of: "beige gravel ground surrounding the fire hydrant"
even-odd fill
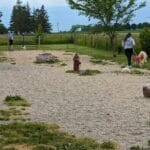
[[[44,51],[46,52],[46,51]],[[66,73],[72,69],[73,53],[52,51],[59,64],[35,64],[43,51],[13,51],[4,55],[16,64],[0,63],[0,108],[7,95],[21,95],[31,103],[35,121],[57,123],[77,136],[111,140],[121,150],[131,145],[147,145],[150,137],[150,99],[142,87],[149,76],[115,73],[115,64],[94,65],[81,55],[81,69],[97,69],[95,76]],[[66,63],[67,66],[61,66]]]

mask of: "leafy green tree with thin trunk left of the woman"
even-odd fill
[[[137,0],[67,0],[72,9],[80,14],[97,19],[103,26],[103,31],[109,36],[110,45],[115,56],[114,39],[116,37],[115,24],[126,24],[134,16],[134,12],[146,5]]]

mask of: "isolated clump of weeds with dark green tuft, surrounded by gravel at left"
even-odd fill
[[[16,96],[7,96],[4,100],[5,104],[8,106],[30,106],[30,104],[22,97]]]

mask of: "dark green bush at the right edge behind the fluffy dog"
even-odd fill
[[[146,53],[150,56],[150,28],[145,28],[141,31],[140,42],[142,50],[146,51]]]

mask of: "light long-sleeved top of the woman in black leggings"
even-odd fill
[[[124,49],[134,48],[134,46],[135,46],[135,41],[132,37],[127,38],[126,41],[124,41],[124,40],[122,41],[122,47]]]

